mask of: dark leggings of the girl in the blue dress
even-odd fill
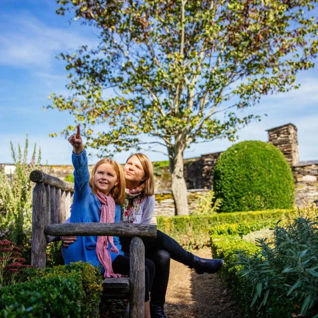
[[[111,263],[113,272],[116,274],[129,275],[129,254],[118,255]],[[152,289],[155,277],[155,264],[145,258],[145,302],[149,301],[149,292]]]

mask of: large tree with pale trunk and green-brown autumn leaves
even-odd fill
[[[96,27],[100,44],[60,54],[70,95],[53,93],[48,108],[72,113],[100,155],[109,145],[145,150],[140,134],[154,137],[149,148],[167,149],[177,214],[188,211],[185,149],[234,141],[239,128],[259,120],[237,109],[297,88],[296,74],[312,68],[317,53],[317,19],[307,12],[316,0],[57,2],[58,14],[74,10],[76,20]]]

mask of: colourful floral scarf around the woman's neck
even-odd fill
[[[145,185],[142,184],[136,189],[129,190],[126,188],[126,205],[125,212],[121,217],[121,222],[123,223],[134,223],[137,220],[136,214],[140,210],[142,203],[144,202],[145,196],[141,195],[145,190]],[[133,199],[133,205],[129,208],[129,199]]]

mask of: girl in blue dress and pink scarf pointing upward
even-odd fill
[[[119,164],[112,159],[101,159],[89,176],[86,152],[77,133],[69,142],[73,146],[75,193],[71,223],[120,221],[120,205],[125,203],[125,179]],[[121,277],[129,274],[129,255],[124,254],[118,237],[79,237],[64,250],[65,264],[90,262],[102,265],[104,277]],[[154,279],[155,264],[145,260],[145,317],[150,318],[149,292]]]

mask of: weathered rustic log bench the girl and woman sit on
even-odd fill
[[[103,298],[129,299],[130,318],[144,317],[145,246],[140,237],[157,236],[156,225],[123,223],[68,223],[74,184],[34,170],[31,265],[46,266],[46,245],[61,236],[127,236],[130,244],[130,277],[106,278]]]

